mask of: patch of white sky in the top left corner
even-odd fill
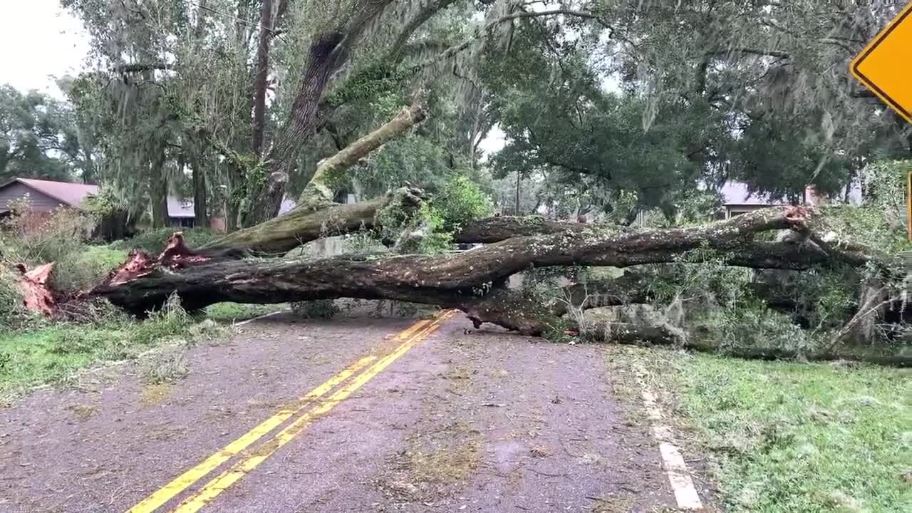
[[[62,97],[52,76],[84,68],[88,36],[59,0],[0,0],[0,84]]]

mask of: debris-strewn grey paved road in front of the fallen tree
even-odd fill
[[[0,511],[675,506],[603,348],[434,322],[275,316],[188,351],[172,384],[140,364],[33,393],[0,410]]]

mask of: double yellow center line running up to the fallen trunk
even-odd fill
[[[448,319],[451,319],[455,313],[455,310],[441,312],[433,319],[421,320],[410,326],[409,329],[400,332],[395,340],[401,340],[401,344],[393,351],[390,351],[385,356],[371,355],[355,361],[341,372],[338,372],[335,376],[326,380],[326,382],[317,386],[314,390],[306,393],[306,395],[298,399],[294,404],[279,410],[276,414],[256,425],[253,429],[243,434],[232,443],[225,445],[218,452],[204,459],[199,465],[194,466],[180,476],[175,477],[170,483],[161,487],[149,497],[143,499],[133,508],[130,508],[128,513],[151,513],[152,511],[155,511],[178,494],[181,494],[181,492],[187,488],[192,487],[197,481],[212,473],[213,470],[222,466],[235,455],[241,454],[244,449],[275,430],[280,424],[283,424],[296,414],[304,412],[304,414],[297,417],[291,424],[288,424],[285,429],[266,440],[262,445],[259,445],[254,450],[247,451],[247,453],[242,455],[241,459],[234,463],[233,466],[230,466],[218,476],[213,477],[197,492],[193,493],[190,497],[185,498],[183,502],[173,510],[175,513],[192,513],[199,511],[200,508],[212,501],[213,498],[218,497],[225,489],[231,487],[235,482],[241,479],[241,477],[244,477],[263,463],[266,458],[273,455],[280,447],[291,442],[295,436],[304,432],[310,424],[313,424],[316,418],[332,410],[338,403],[341,403],[347,399],[349,395],[355,393],[355,391],[364,386],[365,383],[370,381],[379,372],[382,372],[389,367],[390,363],[398,360],[399,357],[414,347],[415,344],[424,340],[432,332],[440,328],[440,325]],[[365,370],[366,367],[367,369]],[[364,371],[361,372],[362,370]],[[361,373],[358,374],[358,372]],[[349,378],[352,378],[352,376],[354,376],[354,379],[349,381]],[[339,385],[342,385],[343,383],[346,384],[339,387]],[[337,387],[339,388],[335,393],[332,393],[326,399],[321,399],[326,393],[330,393]]]

